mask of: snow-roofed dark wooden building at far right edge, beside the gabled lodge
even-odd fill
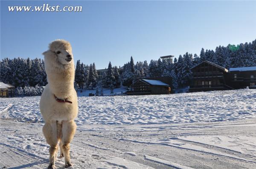
[[[229,84],[234,89],[256,89],[256,66],[229,69]]]

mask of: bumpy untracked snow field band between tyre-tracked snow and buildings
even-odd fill
[[[0,98],[0,118],[43,122],[40,97]],[[79,97],[78,125],[227,121],[256,117],[256,90]]]

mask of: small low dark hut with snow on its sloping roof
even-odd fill
[[[171,87],[160,80],[138,79],[131,84],[131,91],[127,95],[162,95],[170,94]]]

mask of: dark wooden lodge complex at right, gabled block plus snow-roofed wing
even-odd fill
[[[204,61],[192,67],[192,79],[189,92],[212,90],[256,89],[256,66],[230,68]]]

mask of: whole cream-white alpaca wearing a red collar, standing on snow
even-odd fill
[[[78,113],[77,94],[74,89],[75,65],[72,48],[65,40],[55,40],[43,53],[48,84],[40,99],[40,112],[45,121],[44,137],[50,146],[48,169],[54,169],[58,152],[70,163],[70,142],[76,132],[74,119]]]

